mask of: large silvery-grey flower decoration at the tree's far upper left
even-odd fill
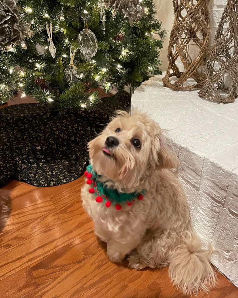
[[[18,0],[0,0],[0,50],[10,51],[12,45],[26,49],[25,38],[32,36],[28,24],[22,24]]]

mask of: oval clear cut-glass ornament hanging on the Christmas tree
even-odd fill
[[[81,53],[85,57],[93,57],[97,53],[97,38],[90,29],[83,29],[79,33],[78,43]]]

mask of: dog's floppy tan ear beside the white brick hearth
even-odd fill
[[[152,165],[156,168],[172,169],[177,167],[177,158],[165,147],[163,136],[156,135],[154,137],[151,150],[153,159]]]

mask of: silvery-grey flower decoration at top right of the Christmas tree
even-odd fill
[[[139,21],[144,16],[144,7],[139,0],[104,0],[105,6],[111,6],[114,9],[113,16],[120,11],[124,18],[129,19],[132,26],[133,21]]]

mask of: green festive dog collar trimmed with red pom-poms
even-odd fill
[[[92,184],[92,188],[89,189],[90,193],[93,193],[96,196],[96,202],[104,202],[106,207],[110,207],[111,204],[115,206],[117,210],[121,209],[121,205],[127,203],[128,206],[131,206],[135,199],[142,200],[143,195],[146,192],[143,189],[141,192],[118,192],[117,189],[109,189],[107,185],[104,185],[103,182],[98,180],[98,175],[94,172],[91,165],[88,165],[84,175],[87,176],[87,184]]]

